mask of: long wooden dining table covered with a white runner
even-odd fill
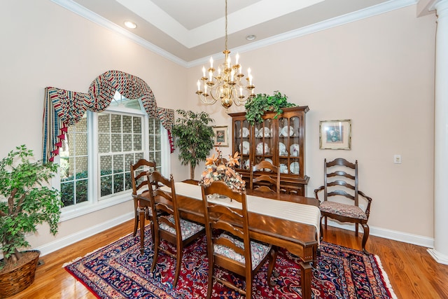
[[[176,182],[174,188],[181,218],[204,224],[202,189],[197,181]],[[162,187],[164,189],[171,192],[171,188]],[[237,202],[232,202],[227,197],[216,196],[208,200],[238,209],[235,205]],[[318,200],[251,189],[246,189],[246,200],[251,239],[283,247],[298,256],[302,298],[311,298],[311,270],[316,261],[320,237],[321,214]],[[141,242],[143,244],[143,239]]]

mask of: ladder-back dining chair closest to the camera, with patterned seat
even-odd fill
[[[209,197],[214,197],[216,194],[232,199],[233,204],[238,202],[239,206],[237,209],[232,209],[209,200]],[[220,200],[222,200],[222,196],[220,196]],[[253,277],[267,259],[269,259],[267,281],[269,286],[272,286],[271,276],[275,267],[277,251],[270,244],[250,239],[246,192],[239,193],[232,190],[223,181],[214,181],[208,187],[202,186],[202,201],[204,202],[209,258],[207,299],[211,297],[214,280],[246,295],[246,298],[251,298]],[[218,232],[218,234],[214,235],[213,232]],[[215,275],[216,266],[245,277],[246,289],[239,288],[232,281]]]

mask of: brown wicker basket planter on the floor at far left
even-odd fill
[[[0,274],[0,298],[17,294],[33,283],[41,252],[38,250],[32,250],[32,252],[36,252],[36,258],[22,265],[22,267]]]

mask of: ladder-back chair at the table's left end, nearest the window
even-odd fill
[[[140,159],[131,166],[132,199],[134,200],[134,233],[140,223],[140,251],[144,252],[145,219],[151,224],[151,237],[154,242],[154,227],[152,222],[151,200],[149,198],[148,174],[155,171],[155,161]]]

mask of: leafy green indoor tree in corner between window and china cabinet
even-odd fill
[[[176,137],[175,146],[179,148],[179,160],[182,165],[190,164],[190,179],[195,179],[195,167],[205,161],[214,146],[213,127],[209,123],[214,120],[207,112],[177,110],[179,118],[173,126],[172,133]]]

